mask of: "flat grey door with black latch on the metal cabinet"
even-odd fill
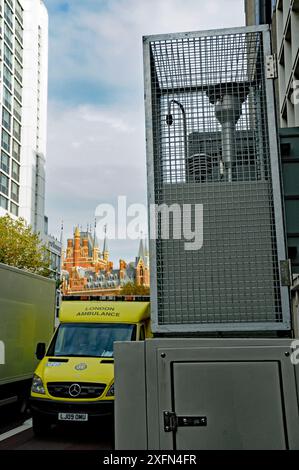
[[[174,363],[173,403],[177,449],[286,448],[277,362]]]

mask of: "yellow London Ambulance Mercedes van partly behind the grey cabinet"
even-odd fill
[[[33,431],[113,414],[114,341],[150,336],[149,302],[65,300],[48,349],[39,343],[30,397]]]

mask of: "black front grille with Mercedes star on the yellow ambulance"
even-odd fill
[[[70,393],[72,385],[79,385],[78,395]],[[99,398],[106,388],[106,384],[89,382],[48,382],[48,392],[52,397],[57,398]]]

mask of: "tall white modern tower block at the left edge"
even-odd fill
[[[0,216],[44,238],[48,14],[42,0],[0,0]]]

